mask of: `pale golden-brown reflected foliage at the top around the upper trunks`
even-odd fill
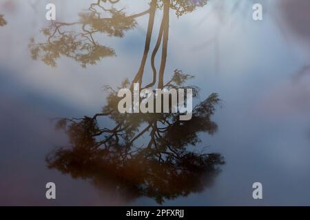
[[[123,8],[118,10],[114,7],[119,1],[98,0],[90,5],[87,12],[79,14],[79,21],[53,22],[48,28],[43,28],[41,32],[48,37],[48,41],[46,43],[36,43],[34,39],[30,41],[32,58],[40,59],[53,67],[56,66],[56,59],[61,56],[73,58],[82,67],[94,65],[101,58],[115,55],[112,48],[100,45],[99,41],[95,40],[94,34],[123,37],[125,32],[136,27],[135,19],[145,14],[149,14],[148,30],[152,31],[156,8],[163,8],[167,12],[172,8],[176,10],[176,15],[179,17],[207,3],[207,0],[152,0],[149,3],[149,10],[127,15]],[[112,6],[108,8],[109,5]],[[163,20],[167,21],[167,16]],[[70,27],[71,30],[68,30]],[[163,30],[161,33],[164,34]],[[149,32],[149,36],[151,35],[152,33]],[[158,41],[161,37],[158,36]]]

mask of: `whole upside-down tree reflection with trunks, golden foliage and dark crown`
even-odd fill
[[[193,89],[193,96],[197,98],[198,87],[185,85],[193,76],[179,69],[174,71],[171,80],[164,83],[169,10],[176,10],[179,17],[202,7],[207,0],[152,0],[148,10],[132,15],[116,9],[114,5],[118,1],[99,0],[92,3],[87,12],[79,14],[78,22],[54,22],[44,28],[42,32],[48,41],[35,43],[32,39],[32,57],[52,66],[60,56],[73,58],[83,67],[94,65],[101,58],[115,55],[112,48],[100,45],[94,34],[123,37],[127,30],[136,27],[137,17],[148,14],[140,66],[132,82],[124,80],[121,88],[132,89],[134,83],[139,83],[141,88],[154,89],[158,82],[158,89]],[[112,7],[108,8],[106,3]],[[163,17],[150,58],[153,78],[143,85],[158,9],[163,10]],[[67,30],[73,26],[79,27],[80,31]],[[155,58],[160,47],[161,62],[157,70]],[[212,135],[217,130],[216,123],[211,121],[220,102],[217,94],[211,94],[194,107],[192,120],[180,121],[179,113],[119,113],[117,91],[112,87],[107,87],[107,91],[107,104],[100,113],[57,122],[56,127],[65,130],[70,145],[58,148],[46,157],[50,168],[74,178],[90,180],[96,186],[111,186],[117,192],[125,192],[131,199],[146,196],[158,203],[200,192],[212,183],[220,171],[219,166],[224,164],[223,157],[217,153],[205,153],[204,149],[198,151],[197,145],[201,142],[200,133]]]

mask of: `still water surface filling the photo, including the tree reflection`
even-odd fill
[[[1,205],[309,205],[309,1],[53,2],[0,2]],[[192,120],[118,113],[132,83]]]

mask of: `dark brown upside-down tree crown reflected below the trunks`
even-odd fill
[[[183,85],[188,78],[191,76],[176,70],[165,88],[189,88]],[[122,86],[126,85],[130,87],[127,80]],[[198,88],[190,88],[198,96]],[[196,105],[192,120],[180,121],[178,113],[121,114],[116,91],[108,90],[103,112],[92,118],[59,120],[56,127],[65,129],[70,146],[48,155],[50,168],[98,186],[110,184],[132,198],[152,197],[158,203],[200,192],[212,183],[223,158],[190,148],[201,142],[198,133],[216,132],[217,125],[210,118],[219,102],[217,94]],[[115,126],[101,126],[103,117]]]

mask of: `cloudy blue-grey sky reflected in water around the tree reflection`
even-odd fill
[[[200,133],[199,147],[220,153],[226,164],[211,188],[165,201],[164,205],[308,205],[310,171],[309,3],[305,0],[256,1],[264,5],[264,20],[251,19],[251,1],[212,1],[194,12],[169,16],[169,44],[164,81],[175,69],[195,76],[200,87],[195,104],[217,93],[223,100],[212,121],[214,135]],[[127,201],[109,187],[96,188],[48,169],[45,155],[69,142],[54,130],[51,118],[94,115],[107,104],[103,87],[118,87],[134,79],[141,65],[147,17],[122,38],[96,34],[112,47],[87,65],[61,56],[56,67],[32,59],[32,38],[45,42],[40,30],[45,1],[0,3],[0,204],[4,205],[156,205],[152,198]],[[54,1],[57,21],[79,21],[92,1]],[[127,14],[143,12],[148,1],[120,1]],[[163,10],[154,19],[154,48]],[[298,25],[296,25],[296,22]],[[75,32],[78,28],[71,27]],[[159,54],[159,53],[158,53]],[[113,54],[114,55],[114,54]],[[159,57],[159,56],[158,56]],[[158,58],[159,59],[159,58]],[[159,61],[158,61],[159,62]],[[152,67],[145,67],[152,81]],[[45,183],[54,181],[56,201],[46,201]],[[264,199],[254,201],[251,185],[264,186]]]

